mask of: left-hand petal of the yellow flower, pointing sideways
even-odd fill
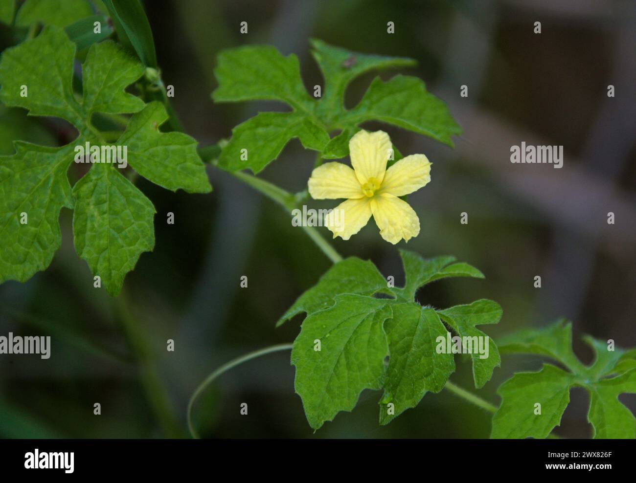
[[[364,193],[356,173],[342,163],[324,163],[312,172],[307,183],[314,200],[362,198]]]

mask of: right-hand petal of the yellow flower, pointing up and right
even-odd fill
[[[411,154],[387,169],[377,194],[404,196],[424,187],[431,180],[431,163],[424,154]]]

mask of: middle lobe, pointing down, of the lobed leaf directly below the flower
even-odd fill
[[[417,406],[428,391],[439,392],[455,371],[452,353],[437,353],[436,339],[446,339],[446,327],[436,311],[417,303],[391,305],[385,322],[389,339],[389,368],[380,400],[380,424]]]

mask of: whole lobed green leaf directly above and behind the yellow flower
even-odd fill
[[[284,57],[271,46],[253,45],[219,54],[214,70],[219,86],[212,93],[216,102],[279,100],[294,109],[292,114],[268,113],[265,118],[261,113],[237,126],[233,139],[224,147],[228,153],[221,154],[223,167],[233,171],[251,168],[258,173],[279,156],[293,137],[300,137],[308,149],[322,151],[323,159],[344,158],[349,154],[349,140],[359,130],[358,125],[372,119],[424,133],[446,144],[452,144],[450,136],[460,132],[446,105],[427,93],[424,83],[415,78],[397,76],[386,86],[374,82],[361,104],[352,111],[345,110],[345,91],[352,79],[371,70],[414,65],[413,59],[352,52],[317,39],[312,40],[312,47],[312,55],[324,76],[324,95],[318,101],[307,93],[295,55]],[[394,102],[398,105],[392,105]],[[397,112],[400,109],[403,112]],[[271,125],[267,121],[272,121]],[[304,123],[310,123],[315,132],[312,143],[302,138]],[[330,140],[328,133],[334,130],[340,133]],[[241,149],[258,154],[241,160]],[[401,158],[397,149],[396,158]]]

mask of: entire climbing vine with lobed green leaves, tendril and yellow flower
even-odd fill
[[[363,125],[377,121],[384,129],[409,130],[449,147],[459,125],[445,102],[413,76],[376,77],[357,105],[346,109],[344,102],[347,87],[362,74],[410,67],[415,60],[313,39],[323,81],[308,92],[293,54],[264,45],[221,51],[214,102],[275,100],[287,110],[259,112],[236,126],[230,139],[197,149],[170,106],[139,1],[104,0],[98,7],[85,0],[27,0],[19,10],[13,1],[0,3],[0,21],[24,37],[2,54],[0,101],[31,116],[63,119],[77,132],[58,147],[16,140],[15,153],[0,156],[0,282],[25,282],[49,266],[60,247],[58,219],[66,207],[73,209],[76,251],[107,292],[118,296],[126,274],[155,245],[155,207],[135,187],[137,174],[172,191],[209,193],[204,162],[279,203],[287,211],[281,216],[312,198],[345,200],[325,222],[343,240],[371,217],[392,244],[418,236],[418,207],[405,196],[434,182],[434,163],[424,154],[403,157],[388,133],[367,132]],[[297,194],[256,176],[294,138],[317,154],[314,172]],[[90,158],[91,145],[125,146],[125,160],[117,161],[126,166],[93,162],[71,186],[69,167]],[[88,153],[78,158],[83,146]],[[336,218],[339,212],[343,219]],[[622,393],[636,393],[636,351],[588,338],[597,356],[583,365],[572,352],[570,325],[563,322],[495,344],[479,326],[499,323],[496,302],[437,308],[416,298],[420,287],[443,278],[483,278],[473,266],[400,248],[406,282],[395,287],[373,262],[342,259],[318,229],[303,229],[334,264],[280,316],[277,325],[304,314],[298,337],[213,372],[188,405],[194,436],[195,400],[219,374],[258,355],[291,349],[296,392],[316,430],[338,412],[354,409],[365,389],[382,391],[378,419],[385,425],[426,393],[446,388],[495,413],[492,437],[544,438],[559,424],[570,388],[582,386],[590,393],[594,437],[636,437],[636,419],[618,401]],[[563,369],[548,364],[539,372],[515,374],[499,388],[499,409],[449,381],[454,355],[469,353],[474,385],[482,388],[501,366],[500,351],[546,356]]]

